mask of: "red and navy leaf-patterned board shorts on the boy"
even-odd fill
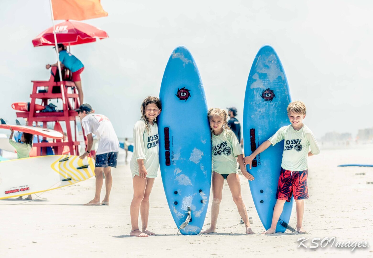
[[[295,200],[308,199],[307,188],[308,169],[290,171],[281,168],[276,199],[290,201],[291,195]]]

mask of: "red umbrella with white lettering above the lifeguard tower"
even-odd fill
[[[65,21],[56,25],[57,43],[78,45],[95,42],[97,38],[109,38],[107,33],[82,22]],[[54,45],[53,27],[41,32],[32,40],[34,47]]]

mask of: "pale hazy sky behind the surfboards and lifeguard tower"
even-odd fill
[[[147,95],[159,95],[172,50],[191,51],[209,107],[236,106],[257,51],[270,44],[288,78],[292,100],[307,106],[317,138],[373,127],[372,1],[101,0],[109,16],[84,21],[109,39],[72,47],[85,66],[85,102],[132,137]],[[14,102],[30,100],[31,80],[49,78],[52,47],[32,46],[51,26],[49,0],[1,1],[0,117],[13,122]],[[369,18],[370,17],[370,18]],[[56,21],[59,23],[62,21]],[[192,115],[192,114],[191,114]],[[3,132],[3,131],[2,131]]]

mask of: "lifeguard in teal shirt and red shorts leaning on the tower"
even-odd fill
[[[58,44],[59,59],[61,63],[61,68],[66,67],[72,72],[72,81],[75,83],[76,88],[78,89],[79,102],[83,104],[83,90],[82,90],[82,81],[80,79],[80,74],[84,70],[83,63],[77,59],[74,55],[66,51],[65,45]],[[53,65],[46,65],[46,68],[49,69],[52,66],[58,66],[57,63]]]

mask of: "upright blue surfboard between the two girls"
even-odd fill
[[[180,232],[196,235],[209,204],[211,135],[200,73],[186,47],[173,50],[159,97],[159,163],[164,192],[178,228],[191,207],[191,220]]]

